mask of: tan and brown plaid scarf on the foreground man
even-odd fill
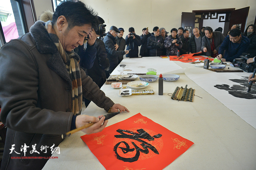
[[[82,111],[82,82],[79,68],[80,57],[72,50],[71,52],[64,51],[59,38],[55,34],[52,28],[52,21],[45,23],[45,29],[47,30],[50,38],[58,48],[58,51],[62,57],[64,64],[66,65],[69,77],[72,81],[72,108],[71,112],[81,114]]]

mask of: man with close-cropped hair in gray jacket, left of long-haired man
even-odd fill
[[[203,37],[204,37],[203,34],[199,32],[199,29],[197,27],[195,27],[193,29],[193,35],[189,40],[189,50],[188,50],[189,54],[202,52],[201,45],[202,45]]]

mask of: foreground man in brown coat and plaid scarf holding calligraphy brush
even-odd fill
[[[82,131],[102,131],[105,117],[80,115],[82,95],[106,111],[128,111],[79,67],[73,49],[92,28],[92,10],[80,1],[62,2],[52,21],[37,21],[0,49],[1,121],[8,127],[1,169],[42,169],[62,134],[89,122],[95,124]]]

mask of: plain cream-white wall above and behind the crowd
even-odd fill
[[[144,27],[153,31],[154,26],[164,27],[170,32],[181,25],[181,12],[193,10],[244,8],[250,6],[247,25],[253,24],[256,15],[256,0],[81,0],[91,6],[105,20],[107,30],[110,26],[134,27],[140,35]],[[44,10],[52,11],[51,0],[34,0],[37,18]]]

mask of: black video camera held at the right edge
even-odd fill
[[[256,62],[247,64],[247,60],[251,58],[251,55],[248,53],[242,53],[242,55],[240,55],[240,58],[238,59],[234,59],[232,64],[234,67],[240,67],[240,69],[251,73],[253,72],[254,68],[256,68]]]

